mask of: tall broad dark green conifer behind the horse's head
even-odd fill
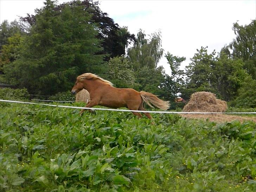
[[[56,11],[47,0],[38,9],[36,23],[24,41],[21,58],[5,68],[6,79],[30,92],[50,95],[69,90],[76,76],[100,73],[104,55],[91,14],[81,5]]]

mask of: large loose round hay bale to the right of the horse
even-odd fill
[[[227,109],[225,101],[216,98],[211,92],[195,92],[190,101],[184,106],[186,112],[225,112]]]

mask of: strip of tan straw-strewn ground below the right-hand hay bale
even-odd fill
[[[226,114],[180,114],[182,117],[188,119],[209,119],[214,122],[230,122],[238,120],[243,121],[254,121],[256,122],[256,115],[254,116],[239,116],[239,115],[226,115]]]

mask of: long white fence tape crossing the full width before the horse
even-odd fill
[[[139,112],[139,113],[167,113],[167,114],[256,114],[256,112],[226,112],[226,113],[220,113],[220,112],[140,111],[140,110],[128,110],[128,109],[76,107],[76,106],[67,106],[67,105],[53,105],[53,104],[31,103],[31,102],[11,101],[11,100],[0,100],[0,101],[2,101],[2,102],[11,102],[11,103],[37,104],[37,105],[46,105],[46,106],[52,106],[52,107],[64,107],[64,108],[73,108],[73,109],[91,109],[91,110],[124,111],[124,112]]]

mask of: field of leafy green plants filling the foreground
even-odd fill
[[[76,104],[77,105],[77,104]],[[79,104],[82,106],[82,104]],[[7,104],[0,191],[249,192],[256,124]]]

